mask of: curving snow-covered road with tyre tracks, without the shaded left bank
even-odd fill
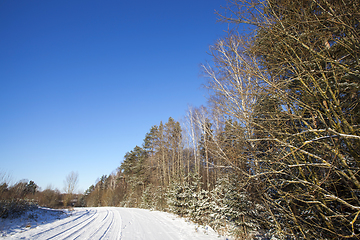
[[[172,214],[136,208],[76,208],[71,216],[5,239],[221,239]]]

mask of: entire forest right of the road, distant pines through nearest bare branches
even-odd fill
[[[168,210],[239,238],[358,239],[359,9],[229,1],[233,29],[203,66],[208,106],[153,126],[87,205]]]

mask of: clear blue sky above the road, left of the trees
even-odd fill
[[[120,166],[153,125],[206,103],[224,0],[1,0],[0,172],[62,190]]]

